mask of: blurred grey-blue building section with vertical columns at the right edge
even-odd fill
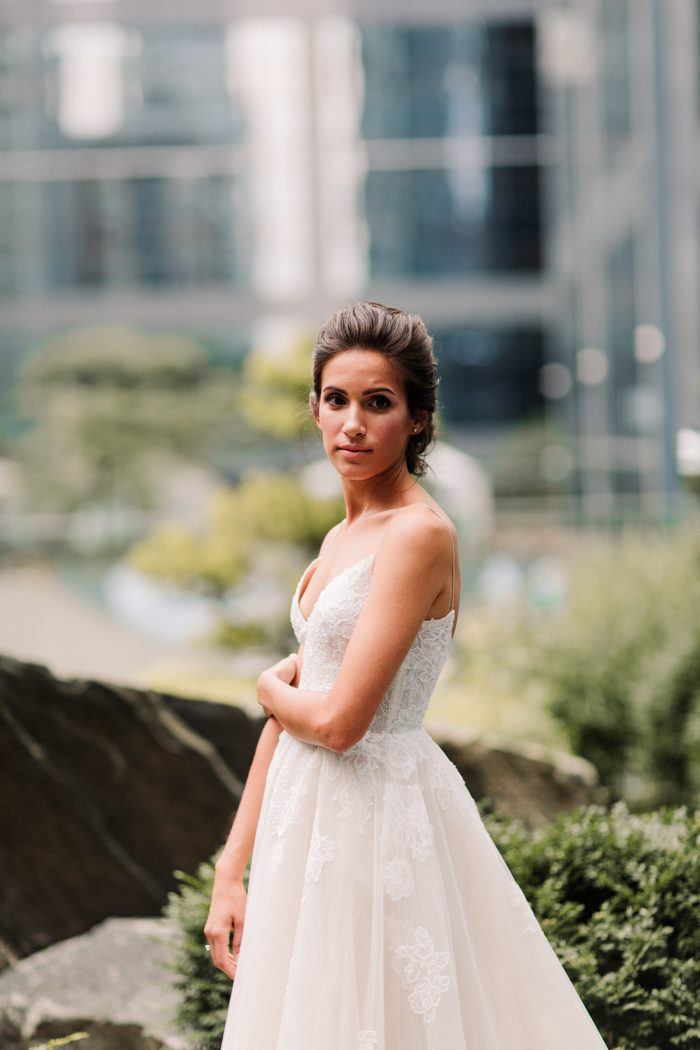
[[[675,520],[676,434],[700,422],[700,3],[576,0],[539,30],[571,491],[585,521]]]

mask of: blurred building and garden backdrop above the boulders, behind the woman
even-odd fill
[[[697,797],[700,3],[3,0],[0,147],[0,651],[254,708],[377,299],[442,380],[429,717]]]

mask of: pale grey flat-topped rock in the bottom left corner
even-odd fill
[[[190,1050],[174,1023],[166,919],[107,919],[0,974],[0,1046],[29,1050],[86,1032],[79,1050]]]

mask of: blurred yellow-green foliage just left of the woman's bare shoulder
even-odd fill
[[[293,476],[251,471],[235,488],[215,494],[200,534],[166,523],[135,544],[126,561],[149,575],[222,595],[255,566],[261,541],[316,549],[343,508],[341,497],[315,499]]]

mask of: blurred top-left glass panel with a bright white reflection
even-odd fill
[[[245,116],[225,26],[116,22],[7,28],[0,36],[0,146],[231,144]]]

